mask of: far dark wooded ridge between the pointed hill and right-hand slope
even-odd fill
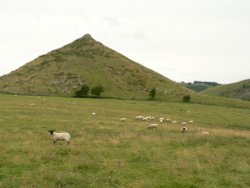
[[[217,82],[208,82],[208,81],[194,81],[192,82],[181,82],[181,85],[187,87],[188,89],[191,89],[193,91],[196,92],[201,92],[204,91],[206,89],[208,89],[209,87],[214,87],[214,86],[218,86],[221,85]]]

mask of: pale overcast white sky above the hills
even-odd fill
[[[181,82],[250,79],[249,0],[0,2],[0,76],[89,33]]]

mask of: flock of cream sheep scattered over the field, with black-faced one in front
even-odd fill
[[[96,113],[93,112],[92,113],[92,116],[95,116]],[[142,115],[139,115],[139,116],[135,116],[134,118],[135,120],[137,121],[152,121],[152,120],[155,120],[156,118],[154,116],[142,116]],[[120,122],[126,122],[128,119],[123,117],[123,118],[120,118]],[[172,124],[177,124],[178,121],[176,120],[173,120],[171,121],[170,119],[166,119],[166,118],[163,118],[163,117],[160,117],[158,119],[158,122],[159,124],[163,124],[163,123],[172,123]],[[181,127],[181,132],[182,133],[185,133],[187,132],[188,128],[187,128],[187,124],[192,124],[194,121],[193,120],[189,120],[189,121],[183,121],[181,122],[180,124],[182,125]],[[158,123],[151,123],[147,126],[147,129],[157,129],[159,127],[159,124]],[[56,144],[57,141],[66,141],[67,144],[70,144],[70,139],[71,139],[71,135],[67,132],[55,132],[55,130],[49,130],[48,131],[51,135],[51,138],[53,140],[53,143]],[[207,131],[201,131],[201,129],[199,130],[199,132],[201,134],[204,134],[204,135],[209,135],[209,132]]]

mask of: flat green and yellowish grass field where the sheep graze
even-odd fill
[[[3,188],[250,187],[250,108],[14,95],[0,106]],[[136,115],[194,123],[148,130],[157,120]],[[49,129],[71,144],[53,145]]]

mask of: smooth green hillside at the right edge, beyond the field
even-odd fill
[[[208,88],[201,93],[250,101],[250,79]]]

